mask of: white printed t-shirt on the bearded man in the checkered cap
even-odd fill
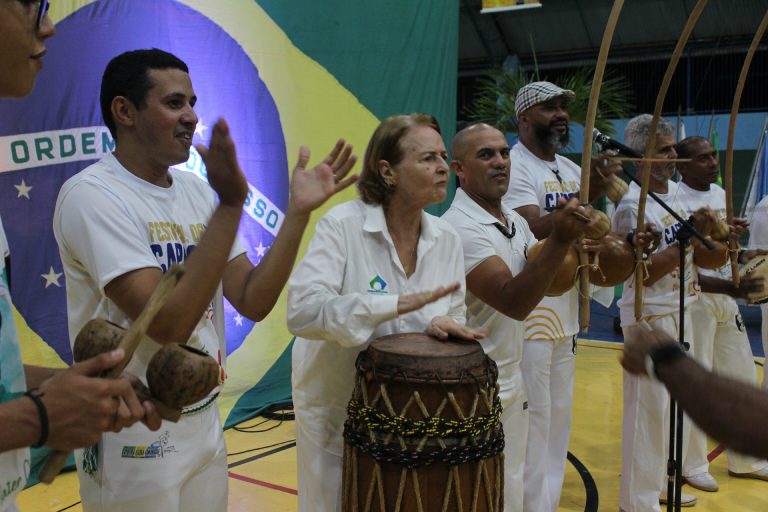
[[[518,142],[509,152],[509,160],[509,190],[502,201],[510,210],[535,205],[543,217],[549,215],[545,208],[557,206],[558,199],[570,199],[579,193],[581,169],[564,156],[555,155],[553,162],[547,162]],[[557,169],[559,180],[553,169]],[[579,292],[576,287],[559,297],[544,297],[525,321],[527,340],[560,339],[578,332]]]

